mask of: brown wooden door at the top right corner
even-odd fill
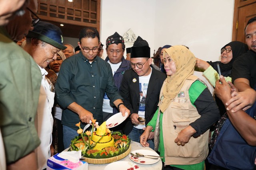
[[[244,29],[247,22],[256,16],[256,0],[235,0],[232,41],[245,43]]]

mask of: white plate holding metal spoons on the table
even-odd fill
[[[132,151],[133,154],[135,154],[136,152],[144,154],[144,155],[159,156],[155,151],[152,151],[152,150],[140,149],[140,150]],[[152,159],[152,158],[146,158],[146,157],[135,158],[131,154],[129,154],[129,157],[132,161],[134,161],[138,164],[144,164],[144,165],[155,164],[156,162],[158,162],[160,160],[160,158],[158,158],[158,159]]]

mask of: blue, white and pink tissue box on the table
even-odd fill
[[[58,157],[58,154],[47,160],[47,170],[88,170],[88,163],[79,161],[74,163],[68,159]]]

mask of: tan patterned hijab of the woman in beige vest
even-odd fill
[[[170,105],[185,80],[194,73],[196,57],[183,45],[175,45],[164,50],[164,56],[168,54],[176,64],[176,72],[173,76],[167,76],[167,83],[163,87],[163,96],[160,99],[160,110],[164,112]]]

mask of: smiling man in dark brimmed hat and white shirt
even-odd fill
[[[39,21],[33,31],[26,36],[27,51],[38,64],[41,70],[42,80],[38,102],[35,125],[38,136],[41,140],[40,146],[36,149],[38,169],[46,168],[47,159],[50,158],[50,146],[52,143],[52,106],[54,104],[53,85],[46,78],[48,72],[44,69],[48,64],[57,58],[57,53],[66,46],[62,45],[62,32],[59,27],[51,23]]]

